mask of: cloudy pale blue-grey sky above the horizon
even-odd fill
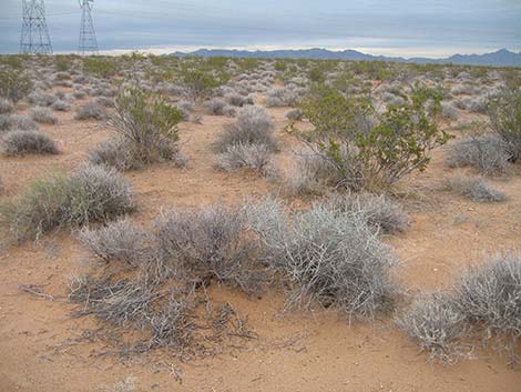
[[[124,6],[123,6],[124,4]],[[45,0],[54,51],[74,51],[76,0]],[[356,49],[445,57],[521,51],[521,0],[95,0],[100,49]],[[17,52],[21,0],[0,0],[0,52]]]

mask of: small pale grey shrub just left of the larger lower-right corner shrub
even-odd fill
[[[417,299],[396,322],[431,361],[453,362],[462,353],[460,340],[469,333],[467,316],[441,292]]]

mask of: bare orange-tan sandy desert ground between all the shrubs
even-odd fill
[[[147,63],[145,60],[135,61],[141,61],[141,68],[130,71],[130,74],[139,79]],[[165,161],[123,172],[134,190],[137,208],[130,215],[134,223],[150,228],[151,221],[170,207],[193,209],[216,203],[231,207],[246,198],[274,195],[293,210],[306,210],[323,198],[287,190],[284,178],[298,170],[295,150],[302,145],[302,140],[287,131],[293,121],[286,118],[286,113],[296,104],[267,103],[270,90],[284,89],[289,82],[280,80],[280,72],[273,69],[273,61],[266,60],[263,64],[264,71],[244,71],[246,77],[243,79],[238,76],[241,73],[236,73],[227,83],[237,91],[253,86],[247,96],[256,105],[267,107],[274,123],[273,137],[279,145],[272,155],[278,175],[273,179],[248,169],[217,170],[212,143],[235,119],[233,115],[213,115],[197,102],[190,110],[190,119],[178,124],[177,144],[187,159],[185,167],[178,168]],[[29,67],[34,70],[35,62]],[[40,78],[58,72],[52,63],[41,67]],[[81,74],[75,66],[69,72]],[[262,72],[267,74],[263,89],[255,82],[255,77],[260,78]],[[499,73],[497,70],[488,72]],[[415,78],[428,80],[429,73],[421,71]],[[456,101],[466,96],[459,94],[454,86],[472,86],[479,90],[486,86],[483,78],[462,70],[441,80],[441,83],[452,89],[451,99]],[[249,84],[241,83],[241,80],[249,81]],[[493,80],[489,84],[491,89],[499,77]],[[0,179],[4,188],[1,203],[14,200],[37,179],[55,172],[65,175],[73,172],[88,159],[89,151],[111,138],[113,131],[106,119],[74,118],[78,108],[96,99],[92,91],[95,83],[109,84],[104,78],[92,77],[74,84],[53,83],[51,79],[47,89],[39,87],[49,94],[72,97],[76,84],[81,84],[86,94],[71,99],[67,111],[54,110],[55,123],[39,124],[40,131],[54,140],[60,153],[0,157]],[[374,91],[389,84],[377,79],[371,83]],[[154,87],[150,82],[146,89]],[[116,89],[112,84],[110,88]],[[486,94],[483,91],[478,94]],[[173,102],[180,99],[173,93],[168,97]],[[17,114],[24,115],[32,107],[34,104],[28,100],[20,100],[14,110]],[[113,110],[106,108],[109,113]],[[519,164],[511,164],[508,173],[483,177],[489,185],[505,195],[501,202],[477,202],[443,185],[447,179],[456,175],[479,175],[473,168],[449,168],[446,155],[454,143],[467,137],[466,130],[472,128],[470,124],[488,119],[479,110],[454,107],[453,111],[453,119],[440,125],[453,138],[432,150],[427,169],[401,179],[390,195],[402,205],[410,220],[405,231],[381,237],[382,243],[390,245],[390,252],[399,260],[394,275],[402,288],[402,299],[391,312],[349,322],[335,306],[326,309],[313,304],[310,309],[285,311],[286,293],[276,287],[252,296],[226,284],[212,282],[205,289],[207,296],[215,303],[229,304],[247,322],[251,335],[223,338],[218,344],[212,345],[211,352],[195,353],[190,358],[166,349],[122,355],[111,352],[112,348],[98,339],[98,334],[108,333],[102,321],[94,315],[73,315],[79,305],[69,301],[70,279],[103,268],[78,240],[78,228],[63,228],[21,243],[8,241],[9,232],[3,230],[6,243],[0,250],[0,390],[521,391],[519,364],[512,364],[504,351],[494,350],[493,343],[484,345],[481,338],[471,338],[472,349],[456,363],[430,361],[428,353],[420,352],[416,342],[395,322],[397,314],[420,293],[450,290],[466,269],[486,254],[514,251],[520,247]],[[311,127],[307,119],[297,120],[296,124],[304,129]],[[519,340],[513,350],[518,355],[521,353]]]

